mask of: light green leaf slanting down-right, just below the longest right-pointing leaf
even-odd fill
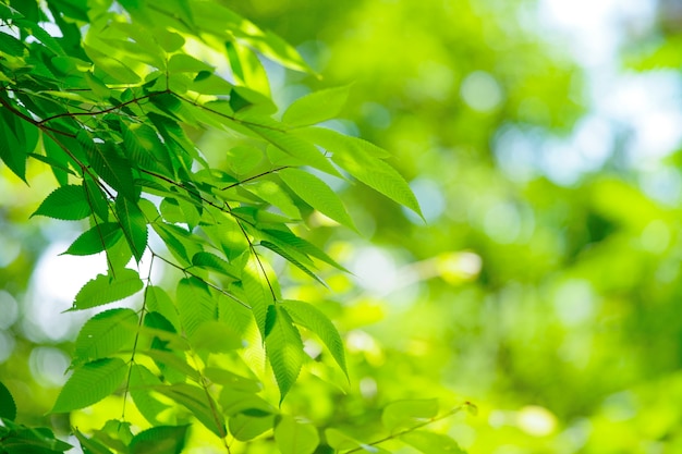
[[[299,169],[283,169],[279,176],[306,204],[334,221],[355,230],[343,203],[333,191],[317,176]]]

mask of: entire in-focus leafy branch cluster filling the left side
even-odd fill
[[[0,158],[27,183],[32,161],[47,165],[57,187],[32,216],[86,221],[65,254],[107,261],[69,309],[96,310],[50,413],[114,395],[122,416],[93,432],[74,427],[73,441],[94,453],[180,453],[197,422],[227,452],[256,438],[292,454],[376,451],[395,439],[334,442],[283,406],[314,363],[304,341],[324,345],[336,364],[325,354],[327,369],[349,370],[334,324],[285,297],[272,261],[322,285],[320,266],[344,271],[297,234],[313,210],[355,229],[334,180],[354,177],[421,216],[383,150],[319,126],[350,87],[309,94],[276,115],[260,58],[313,71],[275,34],[216,2],[3,1],[0,21]],[[203,149],[206,131],[220,147]],[[158,267],[175,272],[174,292],[155,282]],[[108,306],[141,293],[138,308]],[[437,406],[428,415],[418,403],[401,408],[402,417],[437,416]],[[15,407],[0,417],[0,452],[70,449],[14,422]],[[427,451],[441,441],[415,440],[406,443]]]

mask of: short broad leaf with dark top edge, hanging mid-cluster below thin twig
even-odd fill
[[[178,283],[176,292],[180,323],[192,338],[206,321],[218,317],[218,306],[205,283],[196,278],[185,278]]]

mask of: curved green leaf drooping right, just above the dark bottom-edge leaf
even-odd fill
[[[156,386],[155,391],[172,398],[187,408],[208,430],[222,438],[226,435],[224,418],[216,410],[212,397],[202,388],[187,383]]]

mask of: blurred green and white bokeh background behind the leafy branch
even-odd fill
[[[682,452],[681,3],[226,4],[324,75],[268,64],[280,106],[352,84],[329,126],[390,150],[427,221],[337,187],[363,236],[310,236],[354,275],[288,292],[338,321],[354,391],[303,377],[294,410],[363,439],[392,401],[471,401],[434,428],[472,454]],[[76,228],[27,221],[39,170],[0,169],[0,378],[46,424],[78,326],[59,311],[95,271],[54,259]]]

